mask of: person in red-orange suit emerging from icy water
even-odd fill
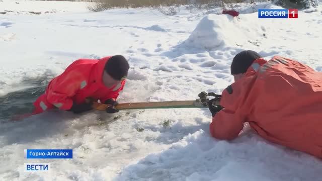
[[[49,82],[46,92],[34,102],[33,114],[53,108],[83,113],[92,110],[93,101],[98,100],[113,105],[106,109],[107,113],[116,113],[116,99],[125,85],[128,69],[122,55],[78,59]]]

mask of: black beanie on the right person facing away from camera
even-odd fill
[[[252,50],[245,50],[238,53],[231,62],[230,73],[238,74],[245,73],[247,69],[253,64],[254,60],[262,56]]]

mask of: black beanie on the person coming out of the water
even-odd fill
[[[129,68],[129,63],[122,55],[112,56],[105,64],[105,71],[115,80],[124,79]]]

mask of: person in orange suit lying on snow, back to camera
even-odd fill
[[[232,140],[249,122],[268,141],[322,158],[322,72],[251,50],[238,53],[230,69],[234,83],[220,106],[208,102],[214,138]]]

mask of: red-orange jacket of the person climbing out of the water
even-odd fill
[[[102,103],[110,98],[116,100],[125,85],[125,80],[111,88],[104,85],[102,76],[109,58],[79,59],[71,63],[62,74],[49,82],[45,94],[35,101],[33,114],[55,107],[69,110],[73,102],[82,104],[87,97]]]

